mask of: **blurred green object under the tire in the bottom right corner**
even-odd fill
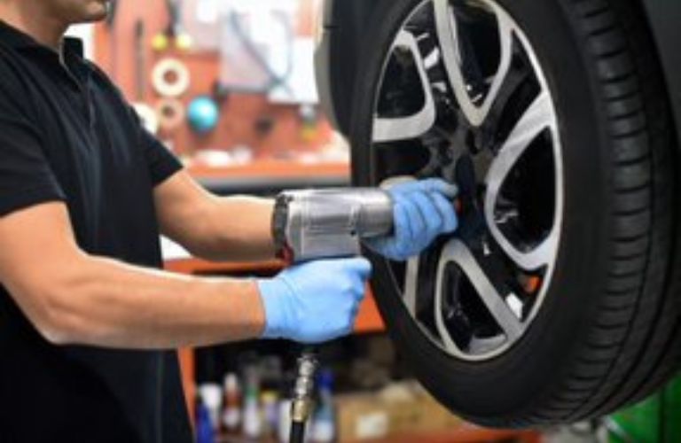
[[[681,442],[681,377],[610,419],[611,443]]]

